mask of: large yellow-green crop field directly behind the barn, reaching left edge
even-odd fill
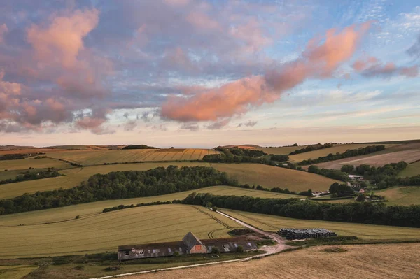
[[[116,251],[118,245],[228,237],[235,221],[201,206],[128,208],[52,224],[0,227],[0,258]],[[28,252],[30,253],[28,254]]]

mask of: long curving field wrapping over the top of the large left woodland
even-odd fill
[[[318,176],[314,173],[283,169],[276,166],[262,164],[210,164],[210,163],[190,163],[190,162],[168,162],[168,163],[139,163],[139,164],[117,164],[87,166],[83,168],[66,169],[60,171],[64,176],[57,178],[45,178],[40,180],[23,181],[20,183],[10,183],[0,185],[0,199],[10,199],[15,196],[28,193],[33,194],[38,191],[48,191],[53,189],[68,189],[80,185],[82,181],[97,173],[110,173],[111,171],[146,171],[158,166],[167,167],[177,166],[212,166],[219,171],[225,171],[232,178],[237,178],[239,183],[249,185],[262,185],[267,188],[281,187],[288,188],[290,191],[314,191],[325,190],[330,187],[335,180]]]

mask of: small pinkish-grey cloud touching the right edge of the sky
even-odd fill
[[[405,76],[407,78],[414,78],[419,76],[418,66],[395,66],[393,62],[386,62],[384,64],[375,57],[368,57],[364,60],[357,60],[353,64],[353,69],[360,72],[362,76],[367,78],[389,78],[391,76]]]

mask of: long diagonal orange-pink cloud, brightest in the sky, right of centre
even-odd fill
[[[169,96],[162,105],[162,117],[183,122],[217,121],[246,113],[253,106],[272,103],[286,90],[307,78],[328,78],[351,58],[370,22],[352,25],[341,32],[330,29],[321,38],[309,41],[301,57],[274,69],[265,76],[241,78],[189,98]]]

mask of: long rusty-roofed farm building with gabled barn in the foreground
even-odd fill
[[[246,237],[200,240],[189,232],[182,241],[119,246],[118,260],[168,257],[174,255],[174,252],[178,252],[179,255],[206,254],[211,253],[215,247],[220,252],[235,252],[239,246],[242,246],[244,251],[258,250],[255,242]]]

